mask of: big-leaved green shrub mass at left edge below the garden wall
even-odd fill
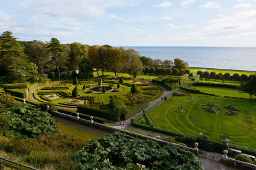
[[[0,114],[2,118],[4,116],[10,120],[10,122],[6,120],[9,127],[0,132],[3,136],[37,138],[56,129],[56,122],[47,111],[40,111],[28,104],[19,103],[12,108],[6,108]]]

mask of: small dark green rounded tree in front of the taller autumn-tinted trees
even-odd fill
[[[79,77],[80,78],[89,78],[93,75],[93,64],[92,60],[84,58],[79,64]]]

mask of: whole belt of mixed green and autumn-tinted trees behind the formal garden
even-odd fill
[[[152,67],[169,70],[172,67],[188,69],[184,60],[160,60],[141,57],[136,50],[109,45],[83,45],[81,43],[61,44],[56,38],[49,42],[18,41],[12,32],[4,31],[0,36],[0,81],[17,82],[38,80],[38,74],[54,73],[60,80],[61,71],[79,69],[81,78],[88,78],[93,73],[113,71],[129,73],[134,78],[147,73]]]

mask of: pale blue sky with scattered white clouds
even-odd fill
[[[256,0],[0,0],[21,41],[111,46],[256,46]]]

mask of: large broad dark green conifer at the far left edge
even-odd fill
[[[29,62],[20,42],[12,32],[4,31],[0,36],[0,76],[6,81],[26,81],[37,74],[37,67]]]

